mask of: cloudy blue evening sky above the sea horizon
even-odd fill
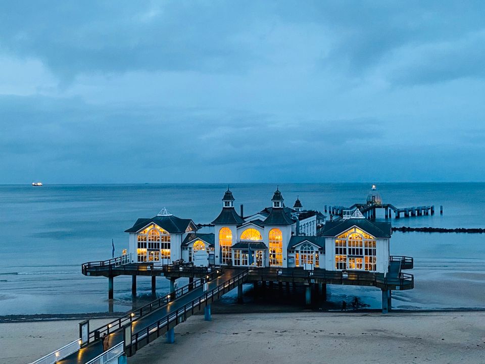
[[[0,184],[485,180],[485,2],[0,8]]]

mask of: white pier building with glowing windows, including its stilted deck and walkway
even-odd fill
[[[249,216],[234,209],[229,189],[222,210],[212,224],[196,224],[163,208],[152,218],[139,218],[126,232],[128,252],[120,257],[82,264],[82,274],[108,278],[108,298],[113,302],[113,280],[132,277],[170,280],[170,292],[149,304],[127,312],[99,328],[89,321],[79,324],[79,339],[48,354],[35,364],[126,364],[126,357],[162,335],[175,340],[174,328],[197,312],[211,321],[212,303],[237,289],[243,302],[243,284],[254,291],[277,283],[289,292],[303,287],[305,304],[326,300],[327,284],[375,287],[382,294],[382,312],[392,307],[393,290],[414,288],[413,259],[390,255],[391,223],[367,219],[359,207],[342,211],[342,216],[325,221],[318,211],[305,210],[297,197],[293,208],[284,205],[279,191],[271,206]],[[369,205],[378,205],[377,195]],[[209,230],[209,231],[208,231]],[[211,231],[210,231],[211,230]],[[176,288],[175,281],[188,278]],[[292,294],[296,294],[296,290]],[[102,344],[108,338],[108,347]]]

